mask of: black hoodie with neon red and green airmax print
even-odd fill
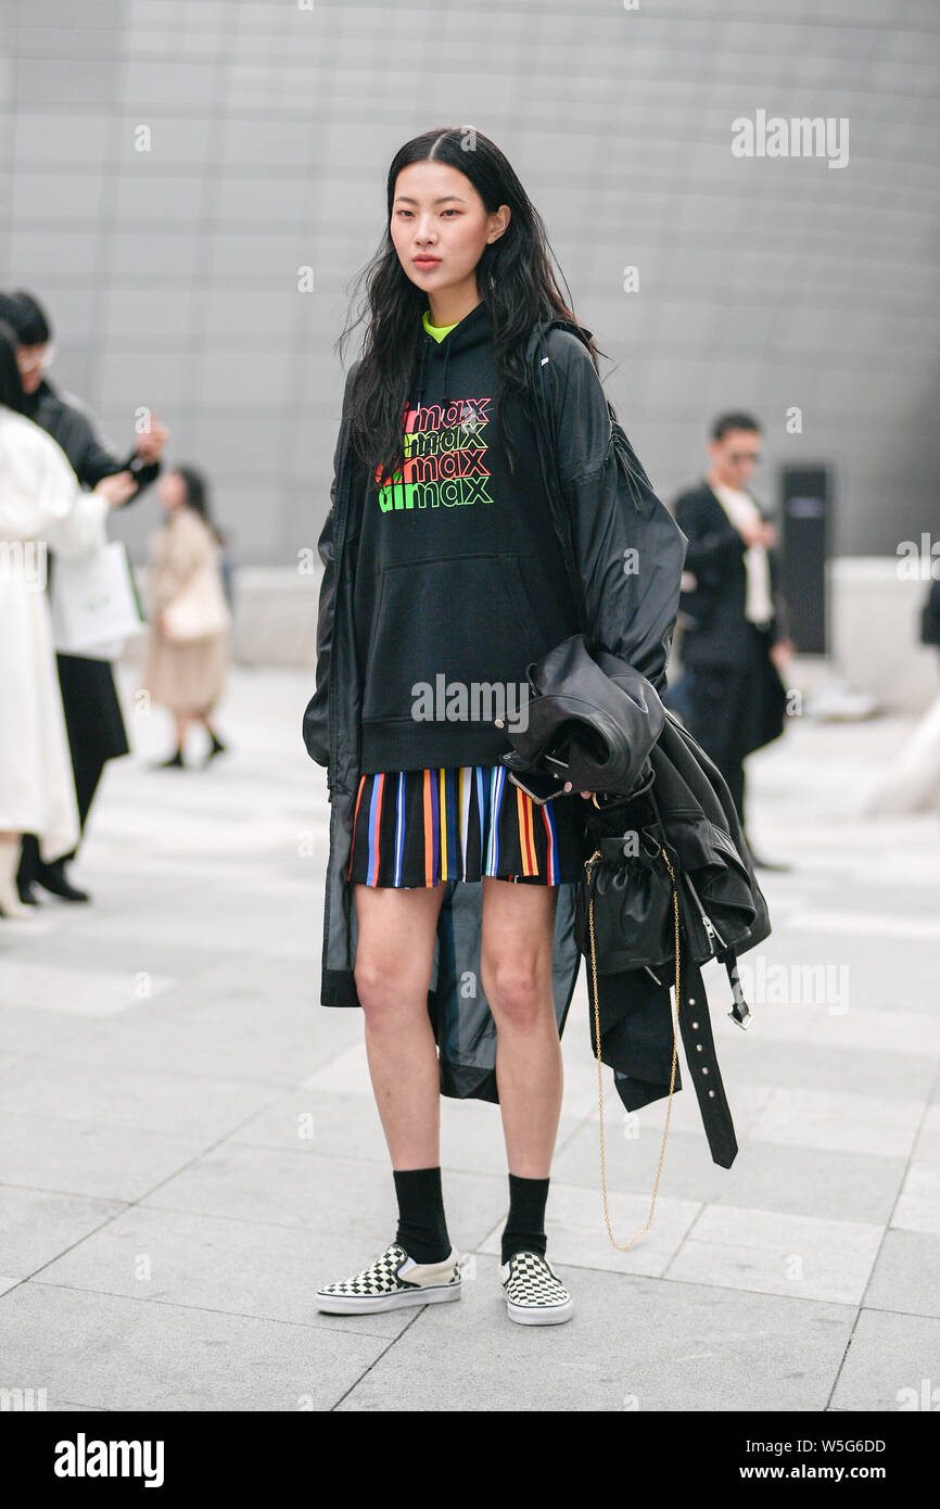
[[[511,744],[493,715],[518,715],[530,661],[578,632],[536,433],[511,395],[510,471],[495,423],[486,303],[421,341],[404,477],[368,487],[359,536],[365,774],[498,762]]]

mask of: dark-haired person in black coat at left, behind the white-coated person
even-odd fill
[[[44,376],[50,361],[51,326],[39,302],[29,293],[0,294],[0,317],[17,333],[20,346],[17,362],[27,395],[27,416],[44,429],[62,447],[72,471],[83,487],[97,487],[103,477],[131,471],[137,478],[140,496],[160,472],[160,453],[167,432],[151,415],[149,430],[137,436],[128,456],[115,454],[95,435],[91,416],[71,394],[59,392]],[[124,504],[127,507],[127,504]],[[54,575],[54,558],[48,555],[50,581]],[[121,715],[121,703],[115,687],[110,661],[91,659],[84,655],[56,655],[59,687],[65,709],[65,724],[75,777],[75,797],[81,830],[95,795],[101,771],[109,759],[130,754],[127,729]],[[66,901],[88,901],[88,892],[71,884],[65,865],[75,857],[75,850],[56,860],[42,863],[35,834],[23,836],[23,853],[17,874],[17,886],[24,902],[35,902],[35,884],[62,896]]]

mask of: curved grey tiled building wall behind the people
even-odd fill
[[[386,163],[462,122],[539,205],[662,496],[745,406],[768,502],[779,463],[836,468],[839,552],[935,531],[935,0],[8,0],[0,27],[3,284],[48,303],[51,376],[109,436],[169,423],[237,560],[315,540]],[[849,164],[733,158],[757,109],[848,116]],[[137,555],[155,518],[122,519]]]

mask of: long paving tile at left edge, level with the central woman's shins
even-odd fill
[[[3,1089],[3,1117],[51,1117],[214,1141],[270,1105],[278,1086],[261,1079],[210,1079],[127,1064],[80,1065],[38,1055]],[[8,1123],[9,1124],[9,1123]]]

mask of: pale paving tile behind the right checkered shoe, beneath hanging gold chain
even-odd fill
[[[629,1242],[646,1225],[650,1198],[652,1191],[643,1195],[608,1191],[608,1210],[617,1242]],[[582,1189],[552,1179],[545,1210],[548,1252],[552,1263],[658,1277],[668,1268],[700,1209],[694,1200],[659,1195],[650,1230],[626,1251],[620,1251],[613,1246],[607,1230],[599,1182],[597,1189]],[[478,1245],[480,1252],[499,1252],[501,1227],[502,1222]]]

